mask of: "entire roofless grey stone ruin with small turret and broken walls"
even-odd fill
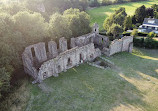
[[[70,44],[64,37],[60,38],[59,48],[54,41],[30,45],[25,48],[22,60],[25,72],[31,75],[35,82],[42,82],[86,61],[93,61],[101,54],[111,56],[123,51],[132,52],[132,48],[132,36],[110,43],[108,37],[99,34],[99,26],[94,24],[92,33],[71,38]]]

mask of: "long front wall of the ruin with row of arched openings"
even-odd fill
[[[44,80],[50,76],[56,77],[58,73],[66,71],[85,61],[91,61],[100,55],[101,52],[94,48],[93,43],[67,50],[60,53],[56,58],[42,64],[39,68],[38,80]]]

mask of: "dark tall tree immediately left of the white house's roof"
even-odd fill
[[[146,17],[146,7],[142,5],[141,7],[137,8],[135,11],[135,18],[137,23],[142,23],[145,17]]]

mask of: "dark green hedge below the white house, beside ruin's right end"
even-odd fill
[[[150,49],[158,49],[158,41],[150,38],[134,38],[134,46]]]

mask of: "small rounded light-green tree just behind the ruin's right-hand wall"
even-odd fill
[[[114,38],[118,37],[123,32],[123,29],[118,24],[112,24],[112,26],[109,28],[107,34],[112,34]]]

